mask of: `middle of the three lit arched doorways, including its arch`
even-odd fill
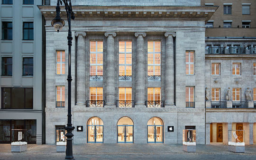
[[[118,143],[133,143],[133,122],[129,117],[118,121]]]

